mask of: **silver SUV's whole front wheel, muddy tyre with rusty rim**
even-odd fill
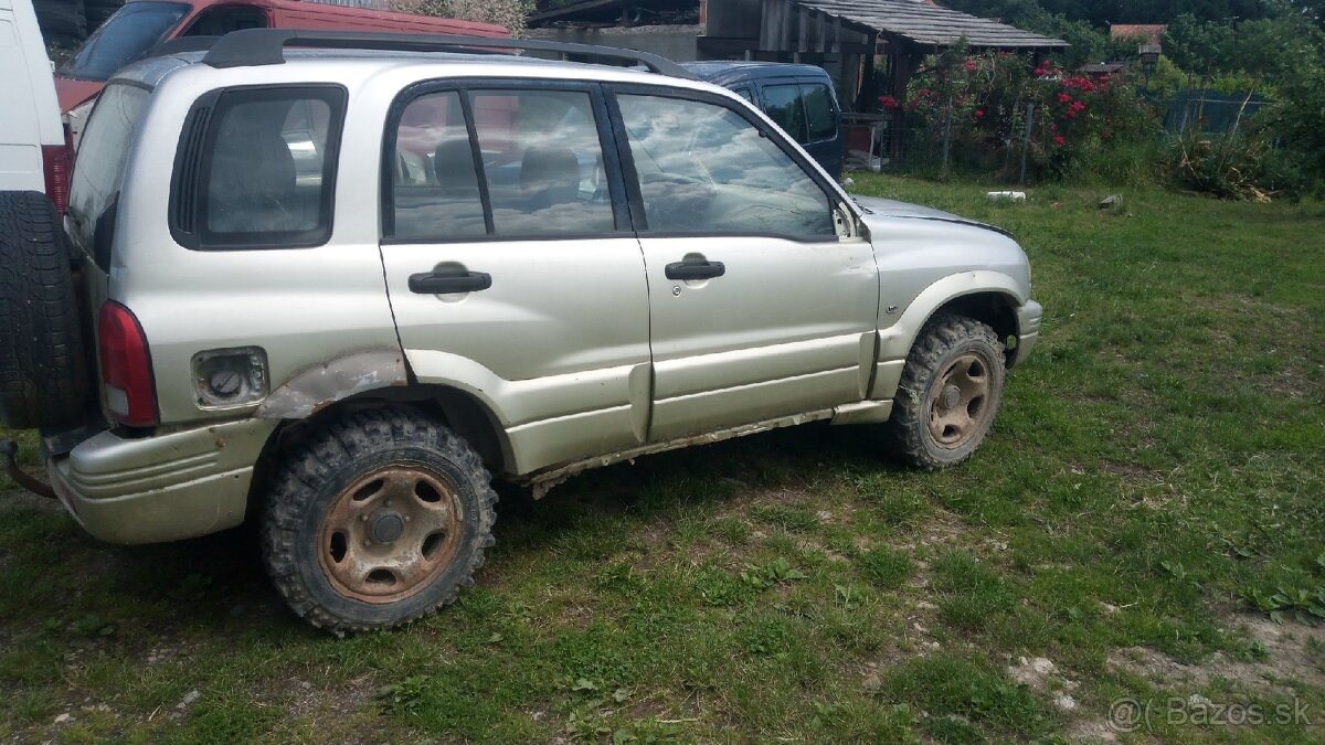
[[[971,457],[994,424],[1006,376],[994,329],[963,315],[931,318],[906,357],[886,424],[890,455],[925,471]]]

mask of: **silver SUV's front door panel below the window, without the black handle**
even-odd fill
[[[874,331],[878,269],[869,243],[776,237],[649,237],[653,346],[651,440],[670,440],[860,400]],[[722,277],[676,281],[685,257]],[[864,374],[863,374],[864,371]]]

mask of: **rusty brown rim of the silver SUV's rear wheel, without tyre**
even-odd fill
[[[421,465],[388,465],[342,490],[318,530],[318,562],[347,598],[395,603],[441,574],[460,549],[456,488]]]

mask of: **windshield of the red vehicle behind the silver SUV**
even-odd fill
[[[183,3],[129,3],[91,34],[60,74],[78,80],[109,80],[115,70],[142,60],[166,32],[188,13]]]

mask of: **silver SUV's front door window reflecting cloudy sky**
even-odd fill
[[[824,191],[745,117],[656,95],[619,103],[651,232],[836,237]]]

